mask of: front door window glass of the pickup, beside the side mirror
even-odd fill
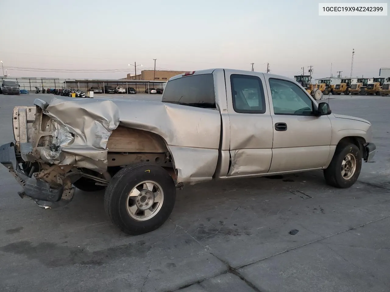
[[[287,80],[269,78],[269,87],[275,114],[313,114],[312,100],[296,84]]]

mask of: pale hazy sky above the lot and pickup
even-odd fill
[[[318,16],[314,0],[0,0],[0,59],[14,77],[117,79],[138,70],[232,68],[292,77],[390,67],[390,16]],[[351,2],[351,1],[320,1]],[[382,2],[359,1],[353,2]],[[88,70],[35,72],[9,67]],[[96,70],[118,69],[121,72]],[[1,68],[0,68],[1,70]],[[29,70],[29,71],[27,71]],[[138,73],[138,72],[137,72]]]

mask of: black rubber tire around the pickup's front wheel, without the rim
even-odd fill
[[[352,154],[355,157],[356,170],[349,179],[346,179],[342,176],[342,162],[348,154]],[[345,142],[337,145],[332,161],[328,168],[324,169],[325,181],[328,185],[336,188],[349,188],[357,181],[361,169],[362,152],[355,144]]]

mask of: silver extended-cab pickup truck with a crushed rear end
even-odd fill
[[[169,79],[162,102],[54,97],[13,111],[0,162],[43,208],[105,189],[123,232],[160,227],[176,188],[323,169],[347,188],[374,156],[369,121],[332,114],[290,78],[210,69]]]

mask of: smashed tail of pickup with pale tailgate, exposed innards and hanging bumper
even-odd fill
[[[0,146],[0,163],[23,187],[18,192],[21,198],[33,199],[38,206],[48,209],[72,201],[72,184],[82,177],[82,172],[72,165],[58,164],[61,153],[56,145],[72,137],[43,114],[44,106],[15,107],[15,142]]]

